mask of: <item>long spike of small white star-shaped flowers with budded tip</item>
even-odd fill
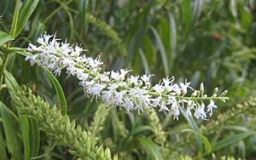
[[[200,90],[192,89],[187,81],[174,83],[174,77],[165,77],[160,83],[151,86],[150,77],[153,75],[127,76],[130,70],[102,71],[100,56],[96,59],[87,57],[84,49],[78,45],[59,43],[54,36],[44,34],[38,38],[39,46],[29,44],[28,50],[35,52],[26,57],[31,65],[38,64],[49,71],[60,75],[66,68],[67,76],[77,77],[80,85],[84,87],[84,94],[102,99],[111,106],[124,108],[138,113],[151,108],[159,108],[166,116],[178,119],[180,110],[188,116],[207,119],[207,113],[212,116],[212,109],[217,108],[214,100],[228,100],[224,95],[217,95],[218,88],[214,89],[211,97],[203,94],[203,85]],[[191,96],[186,96],[188,89],[192,90]],[[209,101],[207,109],[204,101]]]

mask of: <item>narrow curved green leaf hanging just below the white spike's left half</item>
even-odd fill
[[[61,114],[63,116],[67,115],[67,100],[65,98],[65,94],[61,88],[61,84],[59,83],[59,81],[57,80],[57,78],[51,74],[51,72],[49,72],[48,70],[46,70],[47,75],[49,76],[49,79],[51,80],[51,82],[54,84],[55,86],[55,91],[61,106]]]

